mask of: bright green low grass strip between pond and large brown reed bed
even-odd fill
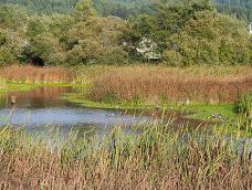
[[[65,94],[62,98],[75,104],[80,104],[84,107],[102,108],[102,109],[139,109],[139,110],[156,110],[156,106],[135,104],[135,103],[97,103],[84,98],[83,93]],[[243,125],[239,115],[234,113],[233,105],[206,105],[206,104],[191,104],[191,105],[178,105],[175,103],[164,104],[159,107],[160,110],[175,110],[185,113],[185,118],[195,118],[199,120],[217,122],[218,126],[222,128],[225,134],[235,134],[239,125]],[[212,116],[221,115],[221,118],[213,118]],[[252,137],[251,131],[240,130],[240,135],[243,137]]]

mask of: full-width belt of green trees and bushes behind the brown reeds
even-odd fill
[[[248,23],[240,20],[241,17],[217,12],[208,0],[162,0],[149,4],[145,1],[148,2],[19,1],[22,6],[6,3],[14,3],[10,0],[1,1],[0,64],[127,64],[147,61],[167,65],[251,63],[252,44]],[[112,2],[126,4],[127,10],[135,13],[104,11],[106,7],[113,8]],[[229,2],[232,8],[240,4],[250,10],[249,1]],[[139,9],[138,3],[145,4],[145,9]],[[225,4],[223,11],[230,8],[227,1],[216,3]],[[49,11],[50,14],[33,14],[25,7],[34,12],[36,9]],[[119,17],[114,17],[119,13]]]

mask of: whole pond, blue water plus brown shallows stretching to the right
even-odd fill
[[[0,126],[11,128],[23,127],[25,133],[34,137],[52,139],[60,133],[61,140],[67,138],[70,133],[83,137],[90,135],[104,136],[115,126],[124,127],[124,133],[136,134],[134,126],[156,122],[161,112],[146,110],[112,110],[84,107],[70,103],[61,97],[66,93],[75,93],[78,87],[36,87],[29,92],[11,92],[2,94],[0,98]],[[11,104],[11,97],[17,104]],[[191,130],[199,125],[211,130],[212,123],[188,119],[178,112],[166,113],[166,118],[174,116],[172,127],[188,125]],[[204,130],[206,131],[206,130]],[[241,139],[242,141],[244,139]],[[251,140],[251,139],[250,139]]]

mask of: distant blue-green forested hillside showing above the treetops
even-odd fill
[[[78,0],[0,0],[0,3],[20,4],[30,13],[52,14],[70,13]],[[154,3],[181,4],[183,0],[94,0],[93,6],[101,15],[128,18],[140,13],[155,12]],[[186,1],[188,2],[188,0]],[[239,19],[252,21],[252,0],[212,0],[219,12],[231,14]]]

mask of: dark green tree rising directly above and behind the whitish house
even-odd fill
[[[158,52],[162,53],[169,45],[168,38],[180,32],[185,24],[202,10],[211,10],[211,7],[199,3],[181,7],[156,3],[154,14],[140,14],[130,20],[130,30],[125,33],[124,40],[137,46],[143,38],[148,38],[157,43]]]

